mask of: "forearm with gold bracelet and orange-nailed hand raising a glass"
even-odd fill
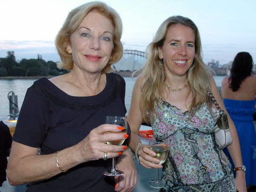
[[[105,142],[120,140],[124,135],[103,134],[107,131],[121,130],[117,125],[110,124],[96,127],[78,144],[58,152],[59,166],[63,170],[69,170],[82,162],[101,159],[104,151],[108,152],[109,158],[119,156],[119,152],[124,151],[124,146],[108,145]],[[7,165],[7,177],[11,185],[42,181],[62,172],[56,164],[55,153],[37,155],[37,152],[38,148],[13,141]]]

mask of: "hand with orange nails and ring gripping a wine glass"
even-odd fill
[[[126,134],[116,134],[123,128],[117,125],[103,124],[91,130],[91,132],[76,146],[80,152],[81,162],[101,159],[104,152],[108,152],[108,158],[121,155],[124,146],[108,145],[106,142],[122,140],[128,137]],[[108,132],[108,133],[107,133]]]

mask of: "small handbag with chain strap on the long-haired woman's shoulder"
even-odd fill
[[[219,116],[217,118],[217,122],[214,127],[215,132],[215,140],[219,146],[220,149],[225,148],[226,146],[229,146],[232,144],[233,140],[230,134],[230,129],[228,125],[228,116],[226,113],[219,107],[219,104],[215,100],[213,94],[210,90],[208,90],[209,98],[213,101],[215,106],[217,107],[219,111]]]

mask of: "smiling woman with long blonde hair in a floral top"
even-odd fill
[[[222,109],[217,86],[201,57],[200,36],[189,18],[167,18],[148,46],[148,61],[137,78],[128,114],[129,146],[145,168],[161,168],[156,153],[142,145],[137,133],[150,122],[154,136],[169,140],[161,192],[245,192],[245,173],[236,179],[224,152],[216,145],[210,89]],[[216,107],[215,107],[216,108]],[[224,109],[226,112],[226,109]],[[236,167],[242,167],[236,129],[228,117],[233,144],[228,146]],[[236,185],[236,186],[235,186]]]

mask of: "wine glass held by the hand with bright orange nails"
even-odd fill
[[[123,116],[106,116],[106,124],[113,124],[123,127],[124,129],[119,132],[106,132],[106,133],[116,133],[116,134],[127,134],[127,118]],[[124,142],[124,139],[121,140],[114,140],[114,141],[108,141],[107,144],[109,145],[122,145]],[[116,158],[113,157],[112,159],[112,169],[105,171],[104,175],[107,176],[118,176],[124,174],[123,171],[116,169]]]

